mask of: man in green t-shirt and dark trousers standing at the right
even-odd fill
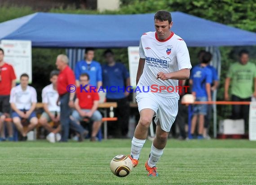
[[[239,62],[230,66],[230,70],[225,79],[225,101],[229,101],[229,86],[231,80],[231,100],[251,101],[251,97],[256,97],[256,66],[248,62],[249,53],[246,50],[239,52]],[[244,119],[248,125],[249,105],[233,105],[232,118]]]

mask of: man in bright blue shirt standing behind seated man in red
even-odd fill
[[[99,62],[94,61],[94,49],[85,49],[85,60],[79,61],[75,65],[75,84],[79,87],[79,76],[87,73],[90,76],[90,84],[100,88],[102,86],[102,67]]]

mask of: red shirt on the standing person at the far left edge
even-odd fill
[[[16,79],[13,66],[4,63],[4,65],[0,67],[0,75],[0,95],[10,95],[12,80]]]

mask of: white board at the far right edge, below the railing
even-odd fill
[[[256,141],[256,101],[252,101],[249,111],[249,140]]]

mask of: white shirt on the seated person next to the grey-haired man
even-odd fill
[[[60,106],[57,106],[59,94],[53,89],[53,84],[45,86],[42,90],[42,102],[48,105],[49,111],[60,111]]]

